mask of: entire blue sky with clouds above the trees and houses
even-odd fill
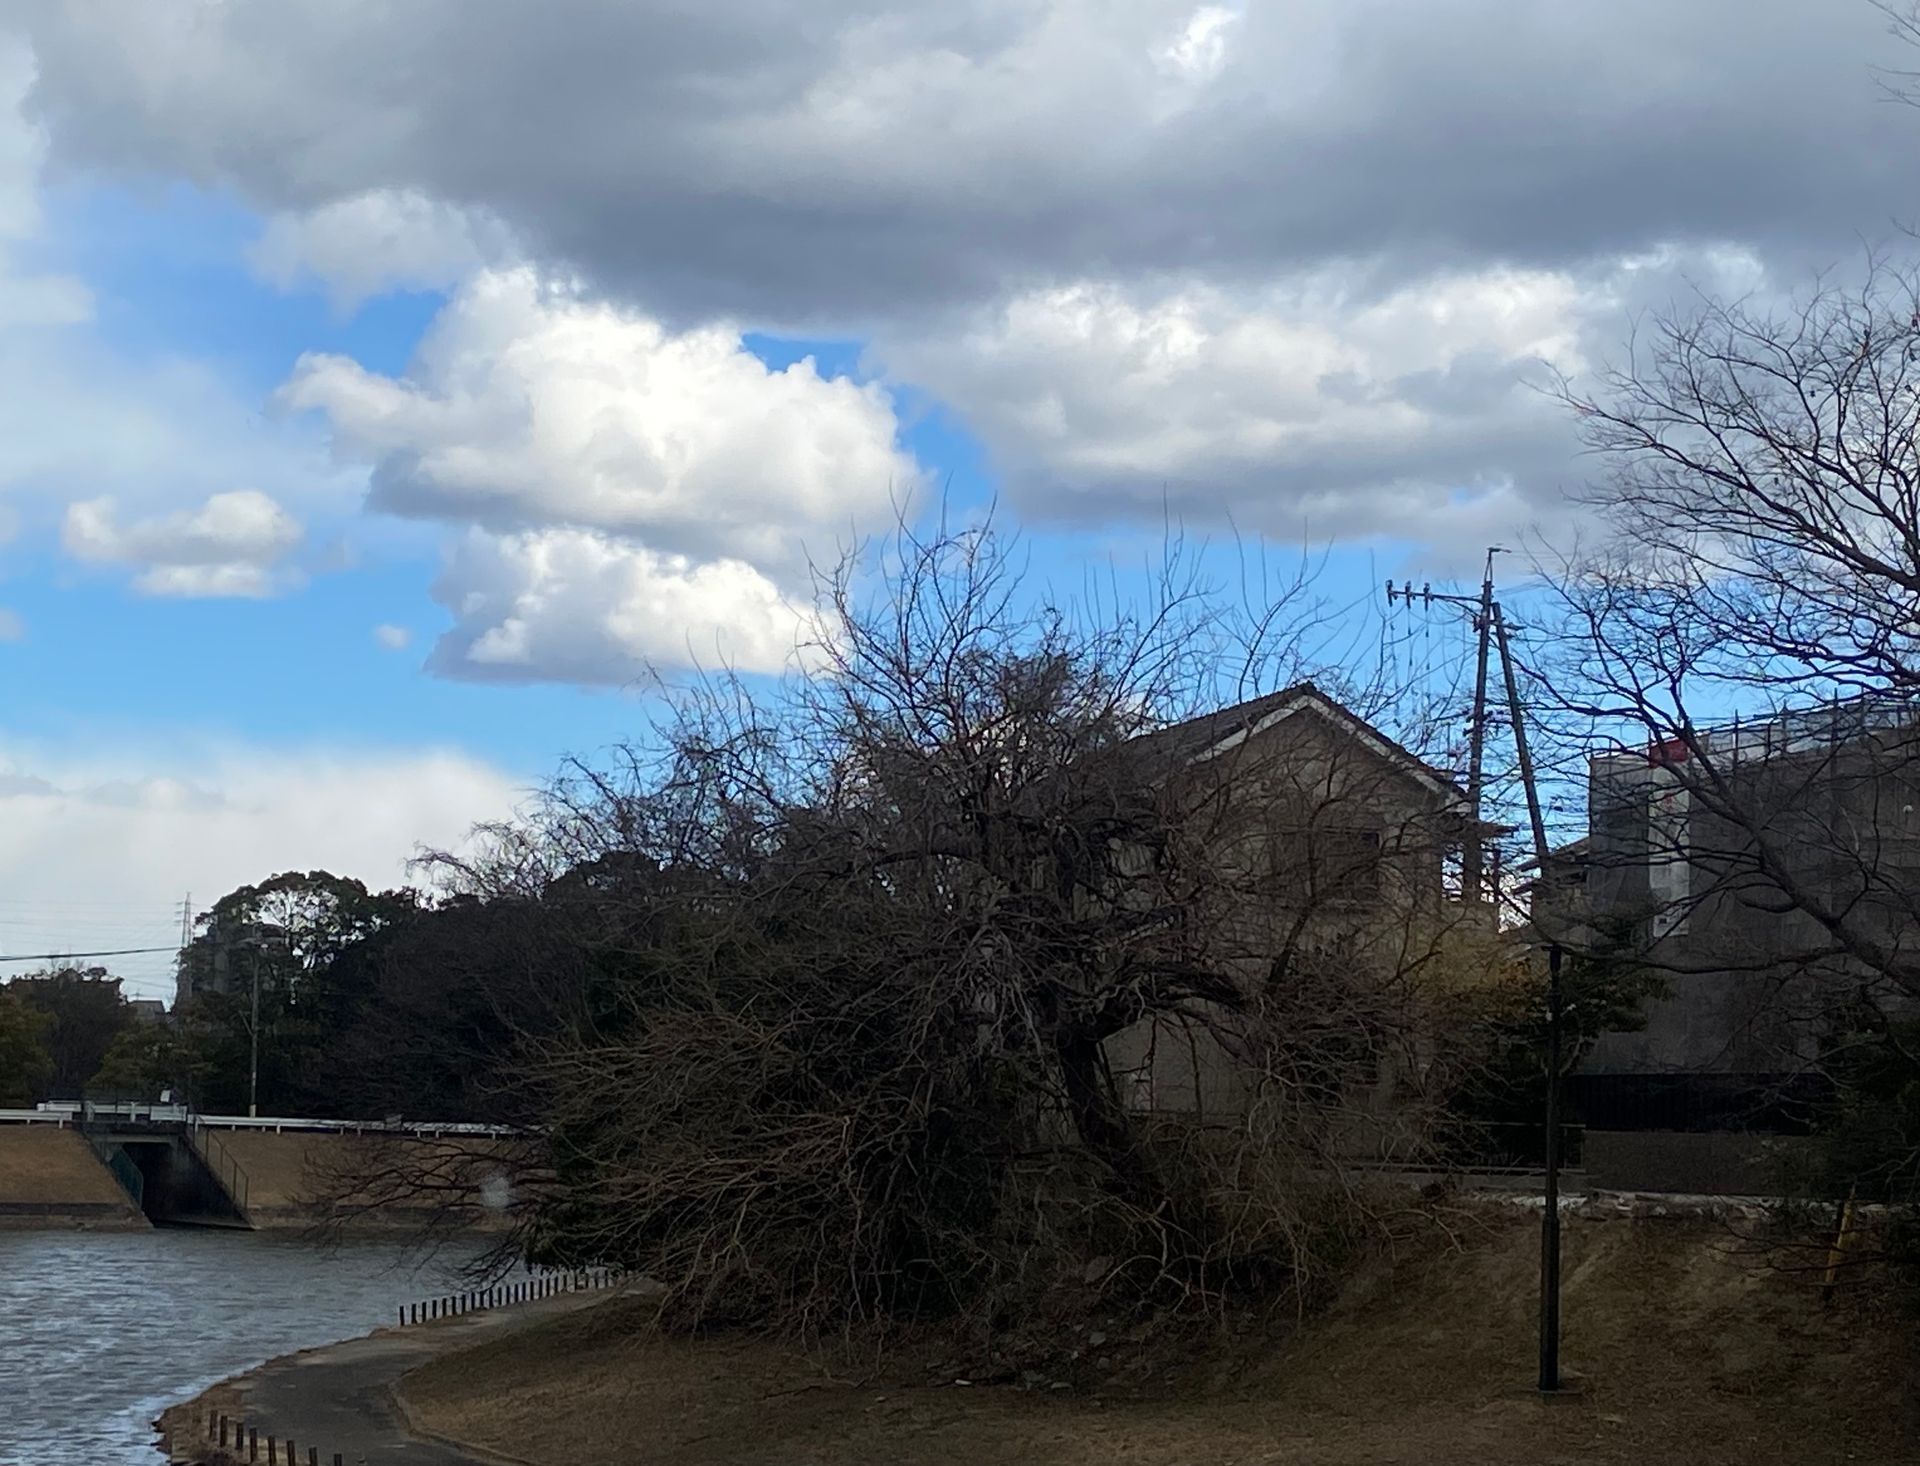
[[[0,956],[392,885],[778,672],[900,507],[1354,604],[1574,535],[1542,386],[1899,248],[1912,59],[1870,0],[13,0]]]

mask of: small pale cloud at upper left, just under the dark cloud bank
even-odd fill
[[[248,249],[255,274],[288,290],[319,280],[351,309],[386,290],[440,290],[509,253],[507,228],[413,188],[374,188],[280,211]]]

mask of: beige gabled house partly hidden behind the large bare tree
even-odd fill
[[[1229,875],[1196,902],[1194,919],[1250,990],[1284,967],[1279,986],[1311,1007],[1317,981],[1365,971],[1379,977],[1382,1004],[1400,1002],[1396,979],[1450,931],[1492,927],[1486,908],[1448,892],[1450,858],[1471,829],[1465,792],[1311,683],[1142,743],[1167,758],[1192,839]],[[1380,1017],[1382,1034],[1405,1036]],[[1233,1019],[1202,1009],[1142,1021],[1106,1050],[1135,1109],[1208,1121],[1248,1105],[1263,1065],[1244,1044]],[[1421,1057],[1382,1042],[1375,1059],[1377,1082],[1357,1109],[1388,1115]],[[1392,1147],[1384,1132],[1356,1144]]]

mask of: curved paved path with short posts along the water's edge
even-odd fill
[[[323,1466],[332,1462],[334,1453],[344,1466],[497,1466],[499,1456],[413,1435],[394,1407],[394,1383],[449,1349],[465,1349],[607,1297],[607,1291],[563,1293],[417,1328],[386,1328],[363,1339],[271,1360],[234,1382],[246,1424],[261,1437],[259,1458],[267,1460],[267,1437],[273,1435],[275,1441],[292,1439],[300,1462],[307,1460],[309,1445],[319,1447]]]

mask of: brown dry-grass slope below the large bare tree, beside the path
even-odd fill
[[[1576,1399],[1528,1389],[1538,1222],[1513,1213],[1476,1218],[1459,1249],[1382,1257],[1329,1312],[1204,1362],[1148,1360],[1123,1324],[1089,1324],[1071,1389],[962,1385],[927,1353],[876,1368],[745,1336],[662,1339],[620,1305],[401,1389],[428,1430],[540,1466],[1920,1460],[1910,1320],[1874,1297],[1822,1307],[1728,1241],[1711,1220],[1569,1224]]]

